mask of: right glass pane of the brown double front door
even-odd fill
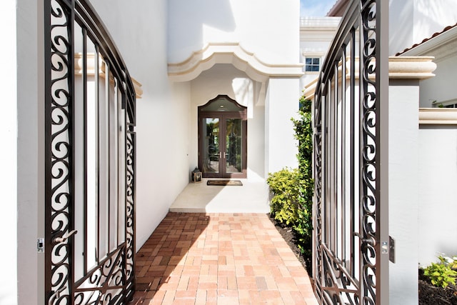
[[[241,119],[226,119],[226,173],[241,172]]]

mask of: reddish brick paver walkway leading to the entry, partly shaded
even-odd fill
[[[169,213],[136,254],[133,304],[317,304],[265,214]]]

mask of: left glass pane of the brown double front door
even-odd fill
[[[204,171],[219,173],[219,119],[204,119]]]

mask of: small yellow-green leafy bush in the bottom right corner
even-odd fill
[[[449,284],[455,285],[457,271],[453,268],[457,267],[457,258],[446,259],[440,255],[438,259],[438,263],[431,263],[423,269],[423,275],[427,276],[434,286],[446,288]]]

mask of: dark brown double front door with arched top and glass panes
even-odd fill
[[[204,177],[246,178],[246,128],[246,107],[227,96],[199,107],[199,168]]]

